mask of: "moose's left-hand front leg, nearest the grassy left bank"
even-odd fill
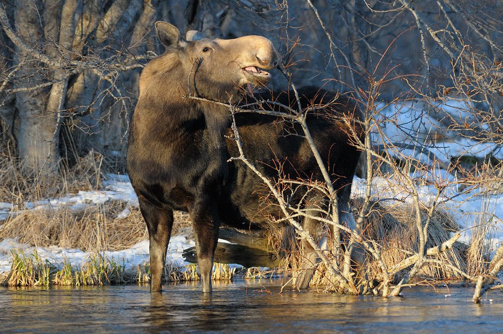
[[[147,224],[150,253],[150,292],[161,291],[161,278],[166,261],[167,244],[173,228],[173,210],[153,206],[139,198],[140,210]]]

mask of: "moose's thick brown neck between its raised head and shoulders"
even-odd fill
[[[166,70],[159,72],[158,68]],[[237,93],[237,90],[233,86],[217,85],[216,82],[203,79],[202,75],[194,76],[190,73],[191,68],[184,66],[175,54],[166,54],[147,64],[140,78],[138,104],[150,116],[137,115],[137,122],[146,122],[145,126],[149,124],[148,126],[154,127],[163,124],[163,129],[159,131],[177,133],[178,136],[172,137],[173,139],[202,135],[208,145],[224,146],[230,111],[228,107],[215,101],[225,104],[234,102],[232,100],[235,97],[229,92]],[[156,118],[157,122],[152,121]],[[202,132],[198,135],[200,131]]]

